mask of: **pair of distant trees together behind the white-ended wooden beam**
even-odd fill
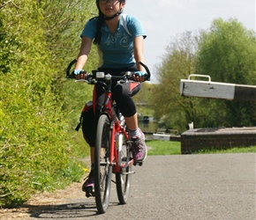
[[[155,117],[168,128],[250,127],[256,125],[256,103],[181,97],[180,79],[190,74],[209,75],[212,81],[256,85],[256,34],[237,19],[216,18],[200,33],[172,38],[157,67]]]

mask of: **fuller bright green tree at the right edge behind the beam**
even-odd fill
[[[256,84],[255,32],[230,18],[217,18],[208,31],[201,33],[197,71],[213,81],[233,84]],[[206,100],[200,101],[206,106]],[[212,115],[202,126],[255,126],[256,105],[252,102],[208,100]],[[204,112],[206,108],[202,107]]]

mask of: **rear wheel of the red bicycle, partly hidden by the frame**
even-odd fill
[[[122,134],[121,134],[122,135]],[[125,161],[132,158],[132,152],[130,146],[125,144],[125,140],[122,146],[121,160],[125,164]],[[120,204],[126,204],[129,198],[132,180],[132,165],[128,165],[122,172],[116,173],[116,185],[117,185],[117,197]]]

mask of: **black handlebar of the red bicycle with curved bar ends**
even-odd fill
[[[72,66],[77,62],[77,59],[75,60],[72,60],[72,62],[70,62],[70,64],[68,65],[67,69],[66,69],[66,77],[67,78],[76,78],[75,74],[74,74],[74,71],[72,70]],[[150,70],[147,68],[147,65],[144,64],[143,62],[139,62],[140,65],[142,65],[145,70],[147,71],[147,75],[144,77],[145,80],[147,81],[150,81]],[[72,72],[71,72],[72,70]],[[135,71],[134,71],[135,72]],[[132,75],[134,75],[134,72],[131,72],[131,71],[126,71],[126,72],[121,72],[121,74],[123,76],[111,76],[110,74],[108,73],[104,73],[104,72],[101,72],[99,70],[93,70],[93,74],[91,73],[87,73],[86,71],[84,71],[84,73],[86,73],[86,78],[85,80],[87,81],[90,81],[92,79],[102,79],[102,78],[106,78],[106,79],[114,79],[114,80],[131,80],[132,79]]]

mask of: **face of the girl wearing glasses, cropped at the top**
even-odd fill
[[[125,3],[118,0],[99,0],[100,10],[106,17],[117,14],[120,9],[124,8]]]

